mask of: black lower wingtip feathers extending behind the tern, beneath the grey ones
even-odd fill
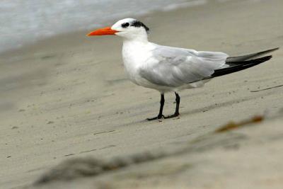
[[[246,60],[246,61],[241,61],[241,62],[233,62],[232,64],[229,64],[229,67],[225,67],[225,68],[222,68],[222,69],[216,69],[214,71],[214,74],[212,74],[211,76],[209,76],[209,78],[212,78],[212,77],[216,77],[216,76],[223,76],[223,75],[226,75],[226,74],[231,74],[233,72],[236,72],[236,71],[241,71],[243,69],[247,69],[249,67],[254,67],[262,62],[265,62],[269,59],[271,59],[272,56],[266,56],[266,57],[260,57],[260,58],[257,58],[257,59],[250,59],[250,60]]]

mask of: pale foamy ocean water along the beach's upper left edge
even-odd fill
[[[1,0],[0,52],[59,33],[96,28],[115,18],[205,3],[207,0]]]

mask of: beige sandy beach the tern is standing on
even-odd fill
[[[139,19],[151,29],[149,40],[152,42],[223,51],[233,56],[283,47],[282,7],[281,0],[211,1],[202,6],[151,13]],[[257,154],[261,159],[254,161],[253,167],[262,166],[258,170],[267,170],[271,177],[271,181],[267,179],[270,185],[266,181],[263,186],[282,188],[279,178],[283,167],[279,161],[283,155],[282,143],[275,144],[263,136],[264,133],[271,137],[283,134],[283,128],[279,127],[283,123],[279,116],[283,108],[282,49],[273,52],[269,62],[213,79],[204,88],[181,92],[179,118],[148,122],[146,118],[158,113],[159,93],[127,80],[120,38],[87,38],[86,33],[88,31],[57,35],[0,55],[0,188],[31,188],[42,174],[68,159],[89,156],[109,160],[156,149],[174,151],[187,144],[194,148],[194,143],[190,142],[203,136],[208,136],[204,137],[208,139],[206,142],[213,138],[215,145],[221,145],[217,143],[221,141],[217,137],[221,134],[207,134],[227,122],[241,122],[255,115],[263,115],[267,121],[254,129],[238,131],[254,140],[247,142],[243,150],[228,154],[221,151],[221,162],[226,166],[207,164],[213,170],[219,168],[215,181],[206,180],[202,184],[202,176],[209,178],[209,171],[202,174],[204,167],[194,167],[199,151],[187,151],[185,155],[160,161],[178,162],[181,166],[194,159],[190,161],[196,173],[192,182],[185,181],[192,172],[175,174],[174,168],[168,168],[168,175],[162,174],[164,171],[147,174],[147,168],[163,164],[156,160],[134,166],[134,171],[152,178],[144,179],[140,185],[139,176],[131,178],[134,181],[127,180],[127,171],[133,170],[132,167],[122,169],[123,173],[110,171],[101,179],[100,176],[74,179],[74,185],[99,188],[98,183],[115,181],[117,185],[111,185],[112,188],[172,188],[173,185],[166,184],[173,175],[178,181],[174,183],[177,188],[233,188],[229,183],[233,179],[232,183],[241,181],[242,188],[256,188],[258,185],[243,177],[257,171],[256,168],[227,166],[233,162],[233,158],[227,156],[234,156],[239,163],[243,161],[240,157],[255,147],[262,151]],[[173,113],[175,98],[173,94],[166,94],[165,98],[165,114],[168,115]],[[253,133],[256,128],[257,132]],[[223,136],[230,137],[229,134]],[[260,149],[260,142],[264,149]],[[217,153],[219,148],[212,148],[205,151],[204,156],[216,162]],[[253,161],[253,156],[248,156],[248,160]],[[272,166],[261,164],[261,160],[272,161]],[[231,170],[235,172],[232,174]],[[229,179],[224,179],[226,173]],[[257,172],[254,177],[258,180],[252,181],[261,182],[266,173]],[[68,184],[51,182],[33,187],[71,188]]]

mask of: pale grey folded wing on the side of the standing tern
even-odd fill
[[[176,47],[156,45],[149,59],[139,70],[141,77],[153,84],[178,87],[211,76],[215,69],[224,67],[223,52],[197,52]]]

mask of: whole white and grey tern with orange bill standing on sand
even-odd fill
[[[129,79],[139,86],[154,88],[161,93],[159,113],[154,118],[173,118],[179,115],[180,90],[197,88],[216,76],[231,74],[269,60],[272,56],[260,57],[266,50],[240,57],[229,57],[224,52],[196,51],[168,47],[149,42],[149,28],[134,18],[117,21],[112,27],[100,28],[92,35],[118,35],[123,39],[122,57]],[[260,57],[255,59],[256,57]],[[173,91],[176,108],[173,115],[164,116],[164,93]]]

